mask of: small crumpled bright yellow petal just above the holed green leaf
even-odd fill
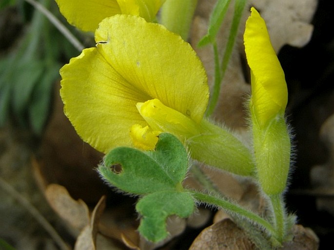
[[[149,126],[142,127],[135,124],[130,129],[130,136],[134,146],[142,150],[154,150],[160,132],[150,131]]]

